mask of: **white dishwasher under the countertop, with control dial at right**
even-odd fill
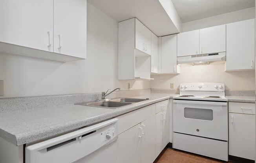
[[[26,147],[26,163],[117,163],[117,122],[104,121]]]

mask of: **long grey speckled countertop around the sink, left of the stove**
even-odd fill
[[[0,114],[0,136],[15,145],[23,145],[108,120],[176,95],[151,93],[134,96],[132,98],[149,98],[150,100],[119,109],[70,104],[2,113]]]

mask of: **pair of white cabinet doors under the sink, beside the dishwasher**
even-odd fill
[[[153,163],[155,115],[119,134],[118,163]]]

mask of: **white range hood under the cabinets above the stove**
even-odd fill
[[[196,54],[191,56],[177,57],[177,64],[179,63],[202,63],[211,61],[226,61],[226,52],[210,53],[210,54]]]

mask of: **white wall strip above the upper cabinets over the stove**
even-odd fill
[[[242,9],[239,11],[234,11],[230,13],[220,14],[217,16],[211,16],[208,18],[203,18],[195,20],[192,22],[187,22],[182,24],[182,31],[192,31],[196,29],[212,27],[215,25],[227,24],[232,22],[239,22],[242,20],[255,18],[255,7]]]

